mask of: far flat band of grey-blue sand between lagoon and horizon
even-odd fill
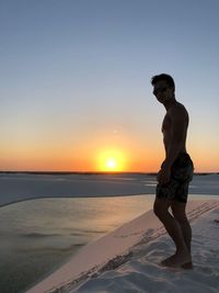
[[[84,184],[83,184],[84,182]],[[42,198],[154,194],[154,176],[0,174],[0,206]],[[194,176],[189,194],[219,194],[219,174]]]

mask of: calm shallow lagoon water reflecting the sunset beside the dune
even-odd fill
[[[0,292],[24,292],[152,202],[152,195],[39,199],[1,207]]]

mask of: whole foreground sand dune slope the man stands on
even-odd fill
[[[28,293],[219,292],[219,200],[189,201],[187,214],[194,270],[158,264],[174,250],[150,211],[82,248]]]

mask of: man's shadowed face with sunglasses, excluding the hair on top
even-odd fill
[[[153,87],[153,94],[160,103],[165,104],[174,98],[174,89],[165,80],[160,80]]]

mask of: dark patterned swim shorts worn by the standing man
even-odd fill
[[[194,166],[189,155],[187,153],[181,153],[171,168],[170,182],[166,184],[158,183],[157,198],[186,203],[193,172]]]

